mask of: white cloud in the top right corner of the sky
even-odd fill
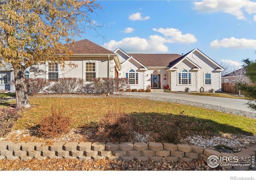
[[[225,12],[245,20],[243,10],[248,14],[256,13],[256,2],[250,0],[203,0],[194,2],[194,9],[200,13]]]

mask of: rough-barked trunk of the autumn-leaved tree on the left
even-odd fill
[[[25,68],[15,68],[14,66],[14,82],[16,91],[16,102],[19,108],[30,107],[28,101],[28,90],[25,82]]]

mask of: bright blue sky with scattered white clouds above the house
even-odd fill
[[[96,1],[96,24],[76,40],[88,39],[126,53],[186,54],[198,48],[218,63],[237,66],[256,59],[256,1]],[[104,36],[104,38],[102,37]]]

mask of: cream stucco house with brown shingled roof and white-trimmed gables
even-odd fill
[[[131,88],[170,89],[184,91],[220,90],[220,65],[198,49],[181,56],[179,54],[127,54],[120,48],[111,52],[89,40],[66,45],[73,51],[69,59],[77,68],[66,66],[61,69],[57,62],[33,65],[26,70],[29,78],[46,78],[52,83],[58,78],[82,78],[90,83],[92,78],[124,77],[129,79]],[[70,61],[66,62],[68,64]],[[10,72],[10,79],[12,79]],[[14,87],[10,87],[14,91]]]

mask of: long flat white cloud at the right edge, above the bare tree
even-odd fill
[[[253,39],[236,39],[234,37],[231,38],[224,38],[222,40],[214,40],[210,43],[211,48],[239,48],[239,49],[245,49],[245,48],[256,48],[256,40]]]

